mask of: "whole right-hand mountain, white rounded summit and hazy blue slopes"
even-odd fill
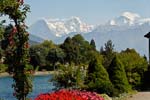
[[[144,35],[149,31],[150,18],[142,18],[135,13],[124,12],[105,25],[99,25],[84,37],[88,41],[94,39],[97,49],[100,49],[108,40],[112,40],[118,51],[134,48],[140,54],[147,55],[148,41],[144,38]]]

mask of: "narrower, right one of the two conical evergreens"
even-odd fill
[[[125,69],[117,56],[115,56],[108,69],[110,80],[115,88],[115,95],[131,90]]]

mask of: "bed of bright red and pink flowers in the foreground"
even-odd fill
[[[35,100],[104,100],[95,92],[79,90],[59,90],[52,93],[40,94]]]

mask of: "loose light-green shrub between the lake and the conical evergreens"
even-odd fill
[[[57,88],[80,89],[84,83],[84,70],[82,66],[60,65],[54,80]]]

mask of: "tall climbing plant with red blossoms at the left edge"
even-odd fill
[[[29,6],[23,0],[1,0],[0,15],[8,15],[11,20],[3,33],[2,49],[4,49],[9,73],[13,74],[13,88],[18,100],[25,100],[32,91],[29,77],[28,32],[25,25]],[[13,21],[13,22],[12,22]]]

